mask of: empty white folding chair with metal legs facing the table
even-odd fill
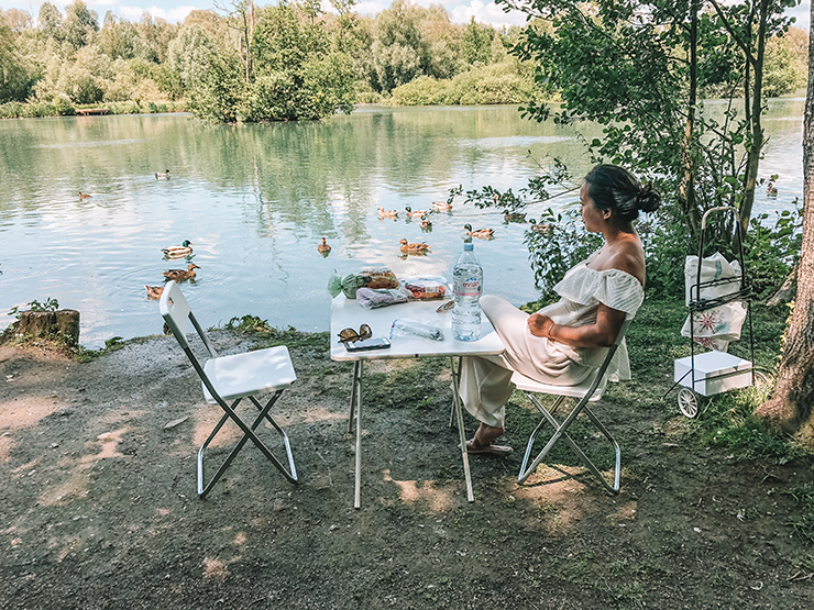
[[[294,373],[294,366],[292,365],[292,359],[288,356],[288,348],[282,345],[278,347],[270,347],[267,350],[246,352],[232,356],[219,356],[206,332],[204,332],[204,329],[195,319],[189,303],[186,298],[184,298],[180,288],[175,284],[175,281],[169,281],[164,288],[158,307],[164,321],[167,323],[167,326],[169,326],[169,330],[173,331],[175,339],[178,340],[182,348],[193,363],[196,373],[198,373],[198,376],[201,379],[206,401],[211,404],[217,402],[221,406],[223,411],[226,411],[211,434],[209,434],[209,437],[198,451],[198,496],[200,498],[207,497],[207,493],[209,493],[215,484],[232,463],[234,457],[238,455],[238,452],[243,448],[246,441],[252,441],[263,455],[265,455],[272,464],[283,473],[285,478],[290,483],[297,483],[297,469],[294,466],[294,455],[292,454],[292,447],[288,443],[288,435],[268,414],[268,411],[277,401],[279,395],[283,393],[283,390],[294,384],[297,379],[297,376]],[[200,365],[200,362],[189,347],[189,342],[186,336],[187,321],[193,323],[198,336],[209,352],[210,359],[207,361],[205,366]],[[256,395],[263,391],[274,392],[265,406],[261,404],[255,398]],[[235,411],[238,404],[243,398],[249,398],[249,400],[251,400],[260,411],[260,414],[257,414],[254,421],[249,425],[240,419],[240,415]],[[227,402],[228,400],[233,402],[229,404]],[[209,443],[212,442],[228,420],[232,420],[240,426],[243,431],[243,437],[231,451],[212,479],[205,485],[204,453],[209,446]],[[283,437],[286,455],[288,456],[288,470],[285,469],[283,464],[280,464],[272,452],[268,451],[254,432],[264,420],[271,423]]]

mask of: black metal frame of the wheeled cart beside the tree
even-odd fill
[[[706,222],[708,217],[712,213],[715,212],[728,212],[732,213],[734,217],[734,224],[736,226],[737,232],[737,241],[738,241],[738,263],[740,264],[740,275],[735,277],[726,277],[726,278],[719,278],[714,279],[710,281],[701,281],[701,268],[702,268],[702,262],[704,259],[704,231],[706,229]],[[735,289],[723,296],[723,297],[714,297],[711,299],[702,299],[701,298],[701,291],[705,288],[710,287],[721,287],[721,286],[729,286],[734,285]],[[752,289],[751,284],[749,281],[749,276],[746,273],[746,264],[744,263],[744,231],[740,226],[740,223],[738,222],[738,210],[736,208],[733,208],[732,206],[721,206],[717,208],[711,208],[706,212],[704,212],[703,218],[701,219],[701,236],[698,240],[698,270],[697,276],[695,279],[695,284],[690,287],[690,369],[680,378],[678,379],[672,387],[667,390],[664,396],[662,397],[662,400],[667,398],[667,396],[679,385],[682,385],[684,387],[679,390],[678,401],[679,401],[679,409],[681,412],[686,415],[688,418],[697,418],[700,412],[700,393],[696,391],[697,384],[705,381],[712,381],[716,379],[724,379],[727,377],[735,377],[735,376],[741,376],[746,373],[751,374],[751,385],[756,385],[756,380],[766,381],[767,377],[763,373],[759,371],[755,367],[755,333],[752,331],[752,321],[751,321],[751,300],[752,300]],[[695,332],[694,332],[694,325],[693,325],[693,314],[698,311],[706,311],[710,309],[713,309],[715,307],[726,304],[733,301],[744,301],[746,303],[746,310],[747,310],[747,320],[749,324],[749,366],[748,368],[739,368],[737,370],[733,370],[729,373],[723,373],[717,375],[710,375],[707,377],[704,377],[703,379],[696,376],[696,365],[695,365]],[[690,376],[690,382],[684,384],[684,380],[686,377]]]

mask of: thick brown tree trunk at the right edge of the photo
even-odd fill
[[[812,25],[803,135],[805,203],[798,296],[774,396],[758,408],[758,415],[776,431],[793,434],[803,446],[814,450],[814,2]]]

